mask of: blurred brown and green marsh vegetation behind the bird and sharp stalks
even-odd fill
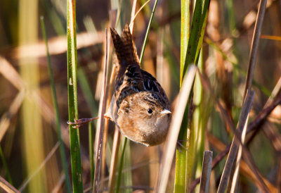
[[[77,56],[79,118],[98,115],[104,61],[105,27],[110,11],[117,10],[117,30],[130,23],[133,1],[77,1]],[[145,1],[136,3],[136,10]],[[1,1],[0,6],[0,175],[23,192],[65,192],[65,175],[55,129],[46,46],[40,27],[44,15],[51,66],[60,112],[62,138],[70,172],[70,140],[67,120],[66,1]],[[133,39],[140,54],[154,1],[138,14]],[[211,0],[202,45],[202,73],[215,96],[222,101],[233,123],[242,108],[244,82],[259,1]],[[194,5],[194,2],[192,2]],[[191,6],[192,7],[192,6]],[[111,25],[112,26],[112,25]],[[259,51],[254,70],[256,92],[249,122],[263,109],[281,75],[281,1],[267,2]],[[145,49],[143,68],[157,77],[171,104],[179,91],[181,1],[159,1]],[[112,48],[110,48],[112,53]],[[112,63],[110,54],[110,63]],[[279,91],[280,92],[280,91]],[[203,91],[203,149],[219,154],[232,140],[208,90]],[[195,104],[195,106],[198,104]],[[279,189],[281,180],[281,106],[277,106],[263,129],[248,143],[251,156],[264,180]],[[93,124],[96,127],[96,123]],[[109,123],[105,156],[105,191],[115,132]],[[81,164],[86,192],[91,189],[89,130],[80,128]],[[127,143],[121,192],[150,192],[155,187],[163,145],[143,147]],[[171,155],[172,156],[172,155]],[[200,176],[202,158],[195,155],[192,179]],[[225,158],[211,174],[210,192],[215,192]],[[255,178],[247,166],[240,171],[239,192],[256,192]],[[70,173],[71,174],[71,173]],[[174,186],[171,170],[167,192]],[[0,191],[1,192],[1,191]]]

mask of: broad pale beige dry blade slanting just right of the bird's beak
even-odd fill
[[[188,97],[192,87],[193,80],[195,78],[195,73],[197,68],[191,66],[188,70],[185,79],[183,80],[183,86],[179,93],[179,99],[177,107],[175,108],[173,118],[171,120],[171,126],[169,128],[169,133],[166,139],[164,154],[162,156],[162,161],[159,168],[159,175],[157,179],[156,192],[165,192],[166,185],[169,180],[169,173],[171,170],[171,163],[174,158],[174,153],[176,150],[176,143],[178,139],[178,132],[181,127],[181,122],[183,120],[183,113],[185,111],[185,106],[188,102]]]

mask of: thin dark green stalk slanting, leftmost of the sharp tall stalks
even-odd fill
[[[70,176],[68,174],[67,160],[66,160],[66,156],[65,156],[65,146],[63,144],[63,139],[61,137],[60,114],[58,112],[58,101],[57,101],[57,96],[55,94],[55,82],[53,80],[53,70],[52,70],[52,66],[51,66],[51,59],[50,59],[50,54],[48,52],[48,41],[47,41],[44,17],[41,16],[40,19],[41,19],[42,34],[43,34],[43,38],[44,38],[45,45],[46,45],[46,54],[47,54],[47,60],[48,60],[48,71],[50,73],[50,82],[51,82],[51,89],[52,89],[52,95],[53,95],[53,105],[55,107],[55,127],[57,127],[58,141],[60,142],[60,158],[61,158],[61,161],[62,161],[62,164],[63,164],[63,170],[65,172],[66,189],[67,189],[67,192],[71,192]]]

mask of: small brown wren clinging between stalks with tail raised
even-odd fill
[[[118,58],[115,94],[107,116],[133,142],[154,146],[166,139],[171,109],[164,89],[155,77],[141,69],[129,25],[121,37],[110,29]]]

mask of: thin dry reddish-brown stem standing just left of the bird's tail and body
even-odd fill
[[[93,180],[93,192],[98,192],[100,188],[100,170],[101,170],[101,160],[103,152],[103,134],[104,134],[104,123],[105,119],[103,118],[105,114],[105,105],[106,105],[106,86],[107,86],[107,65],[108,65],[108,53],[107,53],[107,29],[105,29],[105,66],[103,68],[103,90],[101,93],[100,100],[100,119],[98,119],[98,145],[96,147],[96,165],[95,165],[95,175]]]

